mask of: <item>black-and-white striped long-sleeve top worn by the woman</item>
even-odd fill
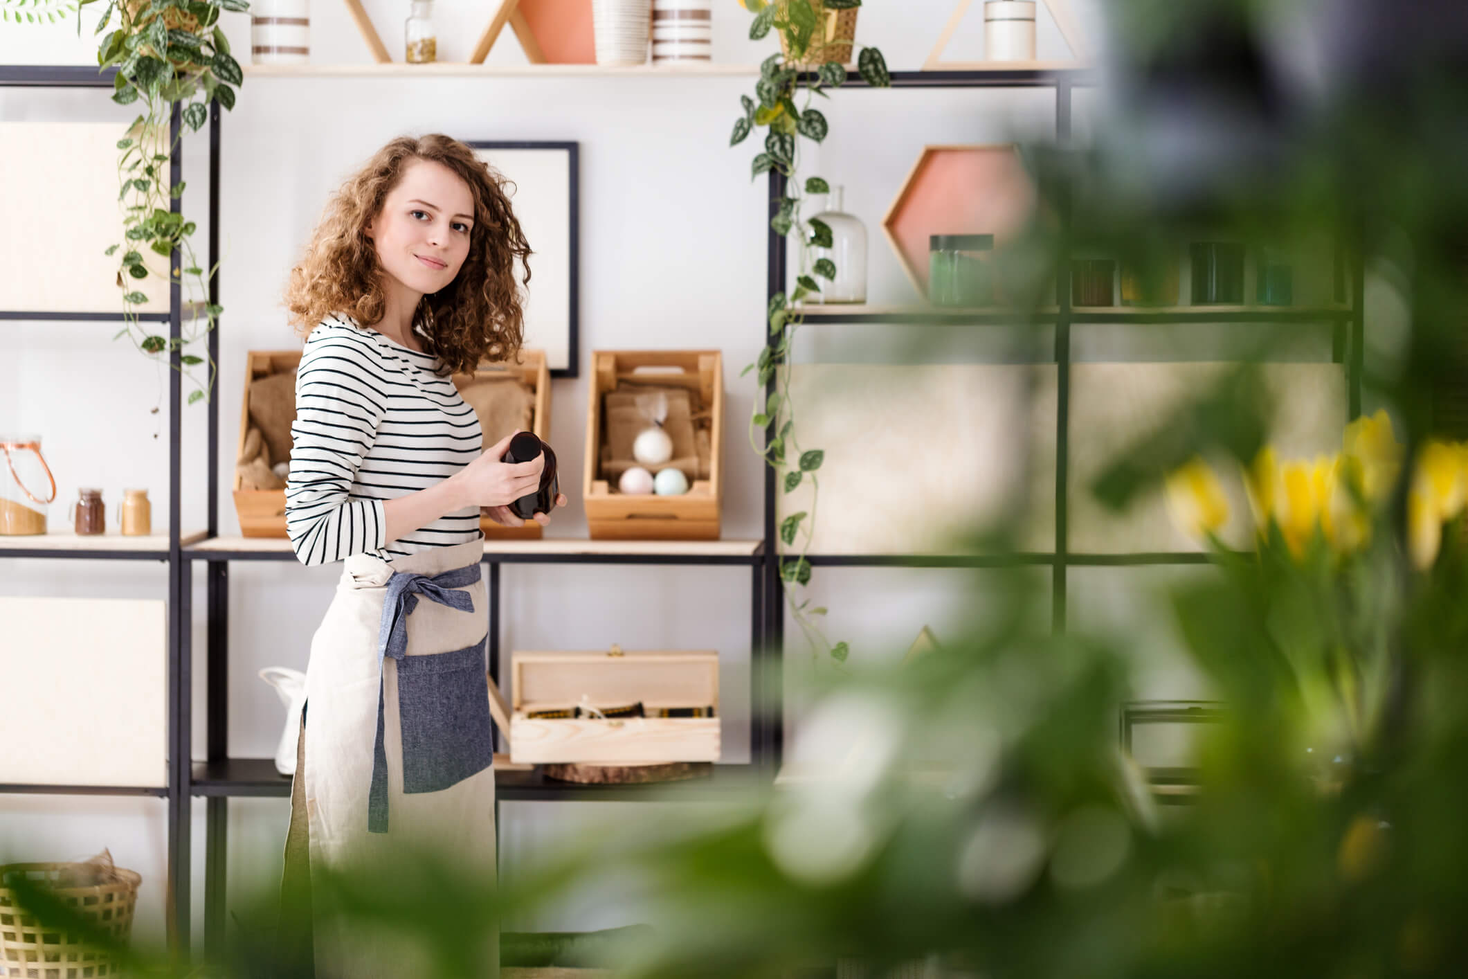
[[[388,540],[383,501],[439,483],[479,456],[479,417],[439,361],[332,314],[295,376],[286,534],[301,564],[355,553],[385,561],[479,539],[479,508]]]

